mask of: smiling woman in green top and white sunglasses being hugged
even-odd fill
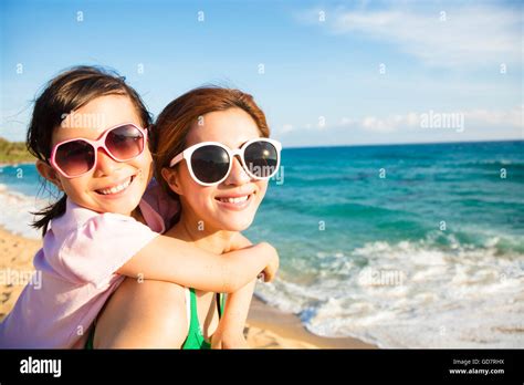
[[[197,89],[171,102],[159,115],[153,139],[156,178],[181,205],[166,236],[214,253],[239,239],[245,242],[240,231],[253,221],[268,179],[280,165],[281,145],[268,137],[263,112],[238,90]],[[103,347],[159,340],[165,347],[210,347],[227,333],[224,324],[243,329],[253,287],[245,287],[234,304],[228,300],[219,323],[212,292],[126,280],[101,314],[95,345],[99,337]],[[139,311],[145,298],[155,298],[144,311],[147,318]]]

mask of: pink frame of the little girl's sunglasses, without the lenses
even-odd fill
[[[107,148],[106,144],[105,144],[105,141],[107,138],[107,135],[109,135],[109,133],[116,128],[119,128],[119,127],[124,127],[124,126],[133,126],[135,128],[137,128],[142,135],[144,135],[144,141],[143,141],[143,145],[142,145],[142,149],[140,152],[135,155],[135,156],[132,156],[130,158],[127,158],[127,159],[119,159],[117,157],[115,157],[111,150]],[[71,142],[78,142],[78,141],[83,141],[83,142],[86,142],[87,144],[90,144],[93,148],[94,148],[94,152],[95,152],[95,159],[93,162],[93,166],[85,173],[82,173],[82,174],[78,174],[78,175],[75,175],[75,176],[70,176],[67,173],[65,173],[57,164],[56,164],[56,150],[57,148],[61,146],[61,145],[64,145],[66,143],[71,143]],[[113,127],[109,127],[107,128],[103,134],[102,136],[96,139],[96,141],[92,141],[92,139],[87,139],[87,138],[84,138],[84,137],[76,137],[76,138],[73,138],[73,139],[67,139],[67,141],[63,141],[63,142],[60,142],[57,144],[55,144],[53,146],[53,150],[51,152],[51,157],[50,157],[50,164],[53,168],[55,168],[60,174],[62,174],[65,178],[69,178],[69,179],[72,179],[72,178],[78,178],[85,174],[88,174],[91,173],[95,167],[96,167],[96,164],[98,162],[98,148],[103,148],[105,150],[105,153],[111,156],[112,159],[114,159],[115,162],[127,162],[127,160],[130,160],[130,159],[134,159],[136,158],[137,156],[140,156],[143,153],[144,153],[144,149],[146,148],[147,146],[147,127],[146,128],[142,128],[140,126],[137,126],[136,124],[134,123],[123,123],[123,124],[118,124],[116,126],[113,126]]]

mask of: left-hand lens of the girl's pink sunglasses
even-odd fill
[[[95,163],[95,152],[85,141],[67,142],[56,148],[56,165],[69,176],[87,173]]]

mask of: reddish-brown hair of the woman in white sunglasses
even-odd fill
[[[161,176],[161,169],[169,167],[171,158],[186,149],[189,131],[200,116],[229,108],[241,108],[247,112],[255,122],[261,135],[270,136],[264,113],[256,105],[253,96],[240,90],[219,86],[195,89],[169,103],[158,115],[151,135],[155,178],[172,198],[179,199]],[[179,215],[171,223],[176,222],[178,217]]]

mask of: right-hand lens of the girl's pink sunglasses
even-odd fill
[[[115,158],[128,160],[143,152],[144,135],[137,127],[124,125],[112,129],[105,144]]]

